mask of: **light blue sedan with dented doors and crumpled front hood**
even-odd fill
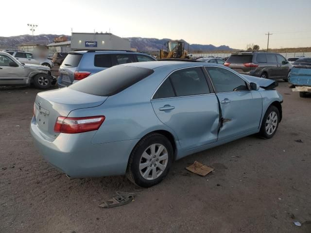
[[[38,93],[30,131],[70,177],[126,174],[149,187],[189,154],[254,133],[271,138],[282,118],[276,85],[211,63],[124,64]]]

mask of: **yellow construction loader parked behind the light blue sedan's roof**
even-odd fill
[[[160,50],[160,59],[168,58],[186,58],[190,59],[188,56],[188,51],[185,50],[185,43],[178,40],[172,40],[165,43],[166,51]]]

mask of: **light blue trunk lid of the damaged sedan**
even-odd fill
[[[35,119],[38,128],[49,137],[56,138],[54,125],[58,116],[68,116],[73,110],[101,105],[107,97],[94,96],[69,88],[39,92],[35,98]]]

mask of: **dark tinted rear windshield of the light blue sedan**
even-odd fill
[[[152,69],[141,67],[116,66],[93,74],[70,85],[69,88],[96,96],[112,96],[146,78],[153,72]]]

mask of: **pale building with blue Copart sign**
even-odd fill
[[[72,50],[131,50],[128,39],[112,33],[71,33]]]

